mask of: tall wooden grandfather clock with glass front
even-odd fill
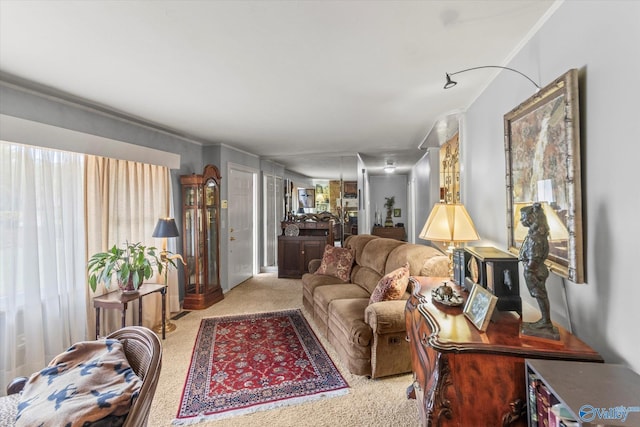
[[[224,298],[219,270],[220,179],[213,165],[207,165],[202,175],[180,177],[186,310],[207,308]]]

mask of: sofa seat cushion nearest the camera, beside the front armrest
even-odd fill
[[[329,328],[335,337],[348,343],[345,347],[369,347],[373,332],[364,322],[364,311],[369,305],[366,298],[350,298],[332,301],[329,305]],[[370,351],[356,350],[360,357],[369,357]]]

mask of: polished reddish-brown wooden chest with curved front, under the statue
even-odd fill
[[[521,319],[511,311],[494,311],[486,333],[479,332],[462,313],[464,305],[431,300],[431,291],[445,280],[412,277],[405,309],[414,372],[407,395],[417,399],[422,425],[527,425],[525,359],[603,362],[560,327],[557,343],[520,337]],[[466,301],[468,293],[449,284]],[[526,319],[532,310],[527,306]]]

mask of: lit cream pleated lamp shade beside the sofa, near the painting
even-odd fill
[[[419,237],[436,242],[480,240],[469,213],[461,203],[436,203]]]

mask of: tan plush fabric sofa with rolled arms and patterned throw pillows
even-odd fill
[[[350,236],[345,247],[355,252],[351,280],[314,274],[320,260],[311,261],[310,273],[302,276],[304,307],[351,373],[378,378],[410,372],[404,307],[411,289],[400,300],[370,304],[369,298],[385,274],[405,263],[412,276],[435,275],[429,268],[447,271],[447,256],[433,247],[367,234]]]

